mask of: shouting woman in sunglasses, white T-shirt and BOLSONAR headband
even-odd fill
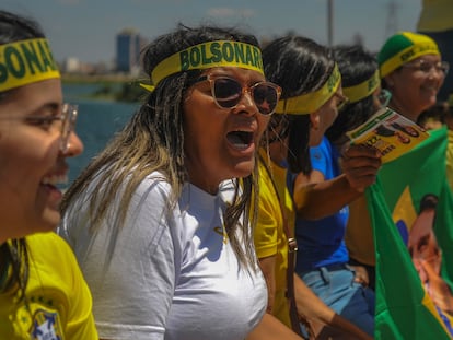
[[[102,339],[242,340],[266,308],[248,212],[280,90],[232,28],[179,25],[142,61],[150,94],[67,191],[59,233]]]

